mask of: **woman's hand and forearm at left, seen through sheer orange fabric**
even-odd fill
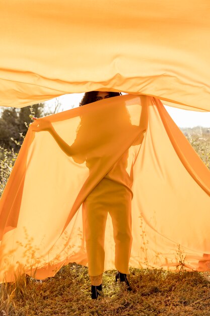
[[[72,150],[71,150],[71,146],[69,146],[59,135],[58,133],[55,131],[55,129],[53,128],[52,124],[50,121],[45,120],[45,119],[40,119],[37,120],[36,118],[33,118],[36,120],[36,122],[34,122],[32,124],[32,129],[35,132],[42,132],[42,131],[48,131],[52,137],[55,139],[55,141],[57,142],[58,146],[62,149],[62,151],[64,151],[68,156],[72,156]]]

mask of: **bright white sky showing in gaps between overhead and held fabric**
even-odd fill
[[[66,111],[79,106],[79,103],[84,93],[72,93],[61,95],[57,98],[60,103],[59,111]],[[47,107],[52,107],[56,103],[56,98],[46,101]],[[210,128],[210,112],[195,112],[180,110],[172,107],[165,106],[169,115],[172,117],[176,125],[179,127],[209,127]]]

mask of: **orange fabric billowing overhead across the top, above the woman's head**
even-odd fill
[[[1,0],[0,6],[1,106],[111,90],[210,111],[209,1]]]

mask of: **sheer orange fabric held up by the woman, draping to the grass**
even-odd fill
[[[183,255],[187,269],[209,270],[210,172],[160,100],[123,95],[30,126],[0,200],[1,282],[88,264],[81,205],[123,155],[133,177],[130,266],[175,269]],[[104,269],[113,268],[108,217]]]

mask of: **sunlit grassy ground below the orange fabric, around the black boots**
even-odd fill
[[[210,315],[208,273],[130,269],[132,292],[115,283],[115,273],[104,273],[97,300],[90,298],[88,269],[75,263],[42,281],[22,276],[1,285],[0,315]]]

